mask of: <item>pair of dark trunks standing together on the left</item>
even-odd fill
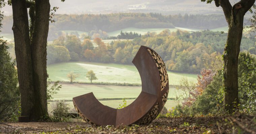
[[[22,116],[38,121],[47,113],[46,44],[49,0],[12,0],[13,34],[21,92]],[[28,10],[31,23],[29,27]]]

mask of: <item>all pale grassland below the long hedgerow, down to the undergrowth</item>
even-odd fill
[[[97,99],[101,99],[100,102],[103,105],[109,106],[111,108],[117,108],[119,104],[123,103],[122,98],[132,98],[127,99],[127,105],[131,104],[141,92],[140,86],[113,86],[113,85],[91,85],[91,84],[61,84],[62,88],[57,94],[54,94],[53,100],[68,100],[67,105],[72,109],[73,102],[71,101],[73,97],[83,95],[86,93],[93,92]],[[168,98],[175,98],[177,95],[181,95],[176,91],[174,87],[169,88]],[[113,99],[113,100],[102,100]],[[55,102],[50,102],[49,112],[52,111],[52,107]],[[177,100],[167,100],[165,107],[171,109],[178,104]]]

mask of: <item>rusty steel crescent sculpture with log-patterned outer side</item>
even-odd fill
[[[147,125],[161,112],[168,96],[169,82],[164,62],[151,48],[141,46],[132,63],[139,71],[142,91],[123,109],[102,105],[93,93],[73,98],[79,116],[91,125]]]

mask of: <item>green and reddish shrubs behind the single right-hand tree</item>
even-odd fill
[[[196,115],[226,115],[223,107],[224,88],[222,70],[205,73],[198,77],[197,87],[190,90],[182,105],[177,105],[166,114],[167,117]],[[214,75],[213,75],[214,74]],[[204,81],[204,82],[203,82]],[[181,81],[181,83],[184,83]],[[185,85],[184,85],[185,86]],[[191,86],[185,86],[190,87]],[[239,110],[249,114],[256,113],[256,60],[242,52],[238,60]]]

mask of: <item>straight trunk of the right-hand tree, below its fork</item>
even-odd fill
[[[232,113],[239,104],[238,100],[238,56],[243,35],[243,18],[235,16],[237,22],[231,22],[224,50],[224,107]]]

